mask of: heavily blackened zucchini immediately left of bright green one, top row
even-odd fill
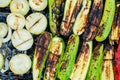
[[[102,11],[103,11],[103,0],[94,0],[88,18],[88,24],[83,34],[84,40],[89,41],[95,38],[98,26],[102,18]]]

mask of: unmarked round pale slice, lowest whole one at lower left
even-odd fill
[[[26,54],[17,54],[9,62],[10,70],[14,74],[25,74],[31,68],[31,59]]]

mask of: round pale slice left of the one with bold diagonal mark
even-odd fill
[[[7,24],[12,29],[23,29],[25,26],[25,18],[19,13],[10,13],[7,16]]]

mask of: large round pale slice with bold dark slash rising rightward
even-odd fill
[[[40,34],[47,28],[47,19],[42,13],[32,13],[26,18],[26,28],[32,34]]]

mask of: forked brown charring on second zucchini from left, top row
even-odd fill
[[[75,7],[74,7],[72,15],[70,17],[70,20],[69,20],[71,3],[72,3],[72,1],[70,2],[68,11],[66,13],[66,18],[65,18],[65,20],[62,21],[65,29],[60,29],[61,35],[64,35],[64,36],[69,36],[70,35],[73,24],[75,22],[76,15],[78,14],[78,11],[80,10],[80,6],[81,6],[81,1],[78,0]]]

